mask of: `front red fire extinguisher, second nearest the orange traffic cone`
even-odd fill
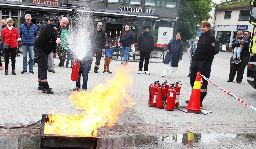
[[[167,98],[166,98],[166,106],[165,109],[168,111],[173,111],[175,108],[175,101],[176,101],[176,89],[173,84],[170,84],[171,87],[169,87],[167,91]]]

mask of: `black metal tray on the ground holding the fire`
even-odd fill
[[[44,134],[44,123],[49,122],[48,114],[42,115],[39,137],[40,147],[77,147],[96,149],[99,137]]]

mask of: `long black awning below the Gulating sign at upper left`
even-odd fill
[[[24,3],[24,2],[10,2],[10,1],[1,1],[0,8],[5,9],[18,9],[18,10],[34,10],[34,11],[46,11],[46,12],[71,12],[72,9],[64,8],[62,6],[55,5],[40,5],[33,3]]]

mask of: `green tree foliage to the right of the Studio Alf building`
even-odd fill
[[[183,40],[191,39],[202,21],[211,19],[209,12],[215,3],[212,0],[180,0],[178,32]]]

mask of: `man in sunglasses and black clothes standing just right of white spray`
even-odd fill
[[[102,22],[99,22],[97,24],[97,29],[93,30],[93,33],[91,33],[91,35],[92,35],[91,37],[92,55],[94,56],[96,53],[96,62],[94,66],[94,72],[98,73],[102,53],[105,53],[105,46],[106,46],[106,34],[102,30]]]

